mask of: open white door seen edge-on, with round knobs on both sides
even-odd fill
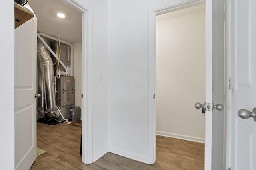
[[[205,170],[225,167],[225,2],[206,0]]]

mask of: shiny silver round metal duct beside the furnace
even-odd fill
[[[45,111],[49,117],[55,117],[57,115],[57,108],[54,90],[55,88],[53,62],[50,55],[48,54],[46,46],[42,43],[42,41],[40,41],[40,39],[37,39],[37,55],[40,62],[42,63],[42,90],[44,91],[44,99],[46,106]]]

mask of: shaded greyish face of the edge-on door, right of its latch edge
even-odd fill
[[[212,2],[212,170],[226,169],[226,0]],[[218,105],[220,106],[220,105]]]

